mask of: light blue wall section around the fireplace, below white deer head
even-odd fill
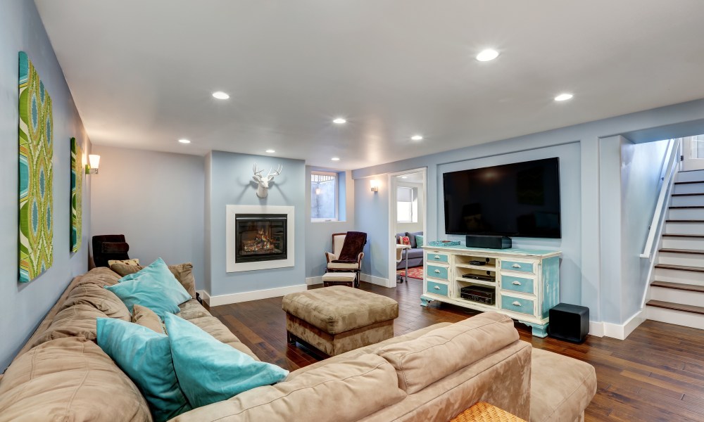
[[[267,198],[256,196],[252,166],[268,171],[283,165]],[[206,290],[211,296],[296,286],[306,283],[306,165],[303,160],[213,151],[206,156]],[[295,207],[294,267],[225,271],[226,205],[289,205]],[[320,249],[320,246],[316,246]],[[322,252],[320,252],[322,255]]]

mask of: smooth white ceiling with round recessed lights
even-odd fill
[[[99,145],[353,169],[704,97],[703,0],[35,2]]]

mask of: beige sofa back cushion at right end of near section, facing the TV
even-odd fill
[[[416,340],[382,347],[377,354],[394,365],[399,387],[413,394],[516,340],[513,319],[484,312]]]

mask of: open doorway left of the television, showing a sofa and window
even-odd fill
[[[389,174],[389,283],[422,283],[427,219],[425,168]],[[405,243],[405,244],[404,244]],[[406,267],[408,266],[408,270]]]

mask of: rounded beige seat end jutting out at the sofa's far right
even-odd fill
[[[533,349],[531,422],[577,421],[596,394],[596,371],[586,362]]]

